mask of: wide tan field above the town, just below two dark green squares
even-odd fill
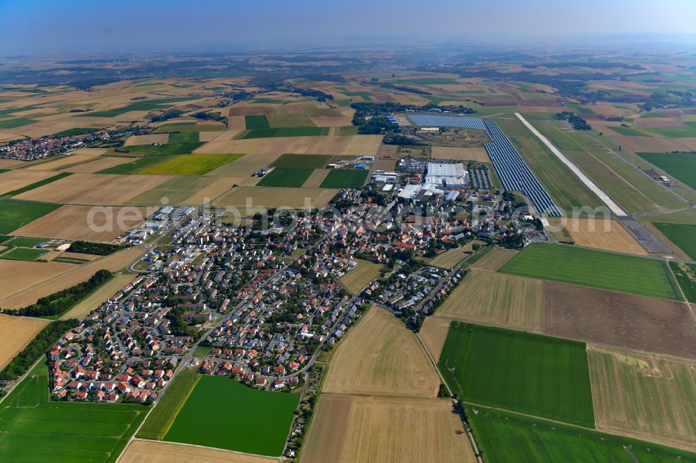
[[[232,163],[237,162],[233,161]],[[232,164],[230,163],[230,164]],[[324,188],[276,188],[269,186],[239,186],[232,188],[212,202],[213,206],[322,209],[338,190]]]

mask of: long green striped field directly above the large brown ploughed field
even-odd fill
[[[528,245],[499,271],[654,298],[680,299],[677,283],[665,261],[584,247]]]

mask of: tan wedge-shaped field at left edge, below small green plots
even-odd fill
[[[0,307],[8,308],[3,302],[4,298],[57,277],[72,268],[74,267],[65,263],[0,259]]]

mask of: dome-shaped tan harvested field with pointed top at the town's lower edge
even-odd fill
[[[333,353],[322,391],[432,398],[439,387],[440,377],[416,335],[373,306]]]

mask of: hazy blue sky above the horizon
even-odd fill
[[[694,34],[696,0],[0,0],[0,54]]]

